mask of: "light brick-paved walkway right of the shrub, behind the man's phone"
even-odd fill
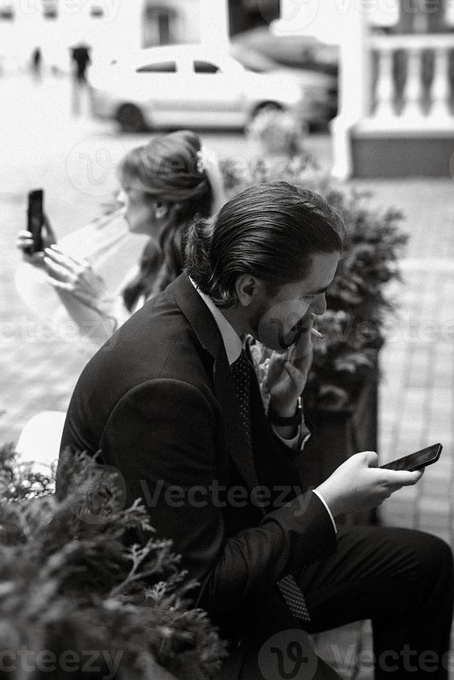
[[[380,515],[454,547],[454,182],[356,183],[373,188],[373,201],[401,207],[410,234],[403,283],[393,291],[398,312],[380,357],[380,456],[391,460],[438,441],[444,447],[421,482],[394,493]]]

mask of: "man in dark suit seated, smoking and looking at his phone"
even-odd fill
[[[144,499],[199,581],[196,605],[230,642],[223,677],[331,677],[322,663],[301,674],[308,654],[299,674],[283,675],[289,643],[362,618],[373,621],[377,678],[415,677],[428,650],[431,676],[447,677],[448,546],[335,525],[421,473],[382,470],[361,452],[315,489],[301,475],[310,435],[299,398],[343,230],[323,198],[285,182],[231,199],[194,223],[187,271],[101,348],[69,405],[62,448],[101,450],[128,503]],[[266,411],[248,336],[275,350]]]

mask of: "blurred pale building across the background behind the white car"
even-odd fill
[[[0,58],[69,69],[69,48],[85,42],[92,60],[181,42],[226,47],[230,35],[279,17],[280,0],[3,0]]]

